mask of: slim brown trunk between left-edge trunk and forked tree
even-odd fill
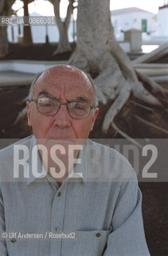
[[[29,10],[28,10],[29,1],[28,0],[23,0],[23,4],[24,4],[24,16],[29,17]],[[33,46],[31,27],[30,26],[24,26],[23,46],[24,47]]]

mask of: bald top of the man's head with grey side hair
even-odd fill
[[[33,79],[29,90],[29,99],[34,97],[34,93],[41,83],[47,83],[49,81],[50,83],[55,84],[55,86],[58,86],[61,84],[61,82],[63,82],[63,80],[64,83],[66,82],[67,84],[69,84],[70,81],[73,81],[74,83],[79,83],[80,85],[86,87],[92,93],[94,105],[98,106],[96,85],[92,78],[88,74],[85,74],[84,71],[77,69],[75,66],[69,65],[53,66],[52,68],[37,74],[37,76]]]

